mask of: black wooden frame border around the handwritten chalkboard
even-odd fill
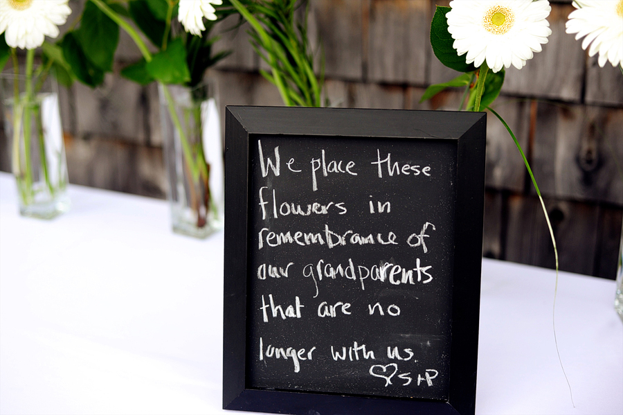
[[[223,407],[276,414],[474,414],[486,114],[385,109],[226,107]],[[258,388],[249,383],[251,152],[258,136],[426,140],[455,148],[449,385],[444,400]],[[253,245],[255,246],[255,245]]]

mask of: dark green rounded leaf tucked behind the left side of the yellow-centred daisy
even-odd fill
[[[431,22],[431,46],[437,59],[451,69],[459,72],[473,72],[476,67],[473,64],[465,62],[465,55],[459,56],[456,49],[453,48],[454,39],[448,31],[448,19],[446,13],[451,8],[437,6],[435,16]]]

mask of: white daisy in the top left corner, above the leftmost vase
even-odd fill
[[[57,37],[67,21],[69,0],[0,0],[0,35],[12,48],[34,49],[46,36]]]

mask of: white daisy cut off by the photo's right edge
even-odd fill
[[[588,55],[599,52],[599,66],[610,61],[613,67],[623,62],[623,0],[574,1],[567,21],[567,33],[577,33],[575,39],[584,37],[582,48]]]

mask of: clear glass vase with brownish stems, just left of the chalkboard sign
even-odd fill
[[[213,84],[159,85],[174,232],[206,238],[222,229],[224,170]]]

